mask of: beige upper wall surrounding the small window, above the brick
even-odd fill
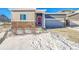
[[[20,14],[26,14],[26,20],[20,20]],[[12,12],[12,21],[35,21],[35,12]]]

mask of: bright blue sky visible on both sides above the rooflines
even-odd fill
[[[79,10],[79,8],[37,8],[39,10],[47,10],[46,12],[58,12],[62,10]],[[11,12],[8,8],[0,8],[0,15],[5,15],[8,18],[11,18]]]

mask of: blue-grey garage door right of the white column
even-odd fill
[[[45,20],[45,26],[46,28],[61,28],[64,27],[64,20],[47,18]]]

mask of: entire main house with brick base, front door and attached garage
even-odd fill
[[[12,29],[57,28],[66,26],[66,14],[46,13],[33,8],[12,9]]]

